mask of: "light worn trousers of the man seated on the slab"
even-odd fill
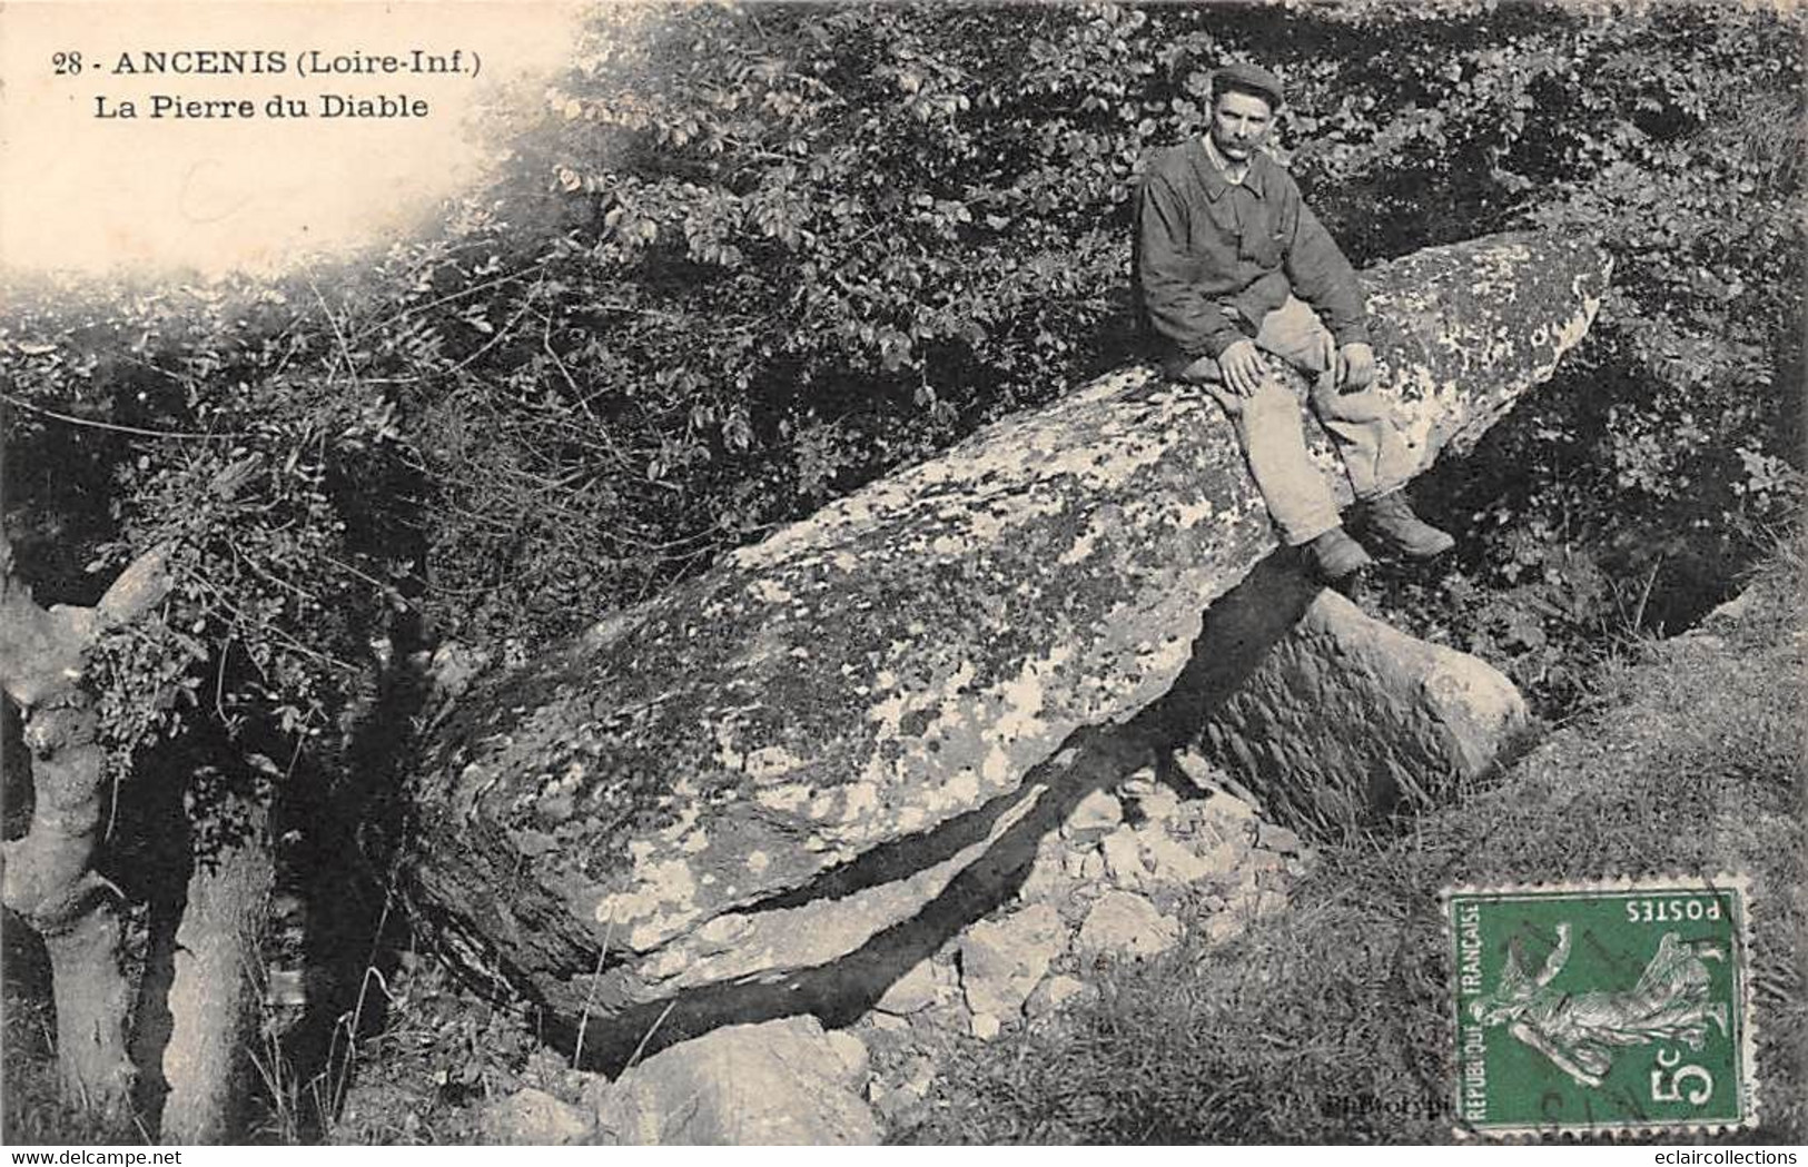
[[[1289,296],[1262,318],[1255,345],[1311,376],[1307,403],[1343,459],[1358,500],[1380,499],[1407,484],[1417,459],[1394,426],[1387,401],[1374,388],[1338,392],[1332,385],[1336,341],[1311,305]],[[1305,452],[1300,401],[1280,378],[1264,374],[1260,387],[1244,397],[1224,385],[1224,372],[1210,356],[1175,376],[1204,387],[1229,414],[1249,477],[1262,491],[1282,542],[1311,542],[1342,526],[1331,486]]]

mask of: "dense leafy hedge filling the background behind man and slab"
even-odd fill
[[[1378,600],[1560,714],[1604,636],[1685,623],[1801,502],[1803,33],[1745,5],[598,5],[430,235],[280,280],[18,278],[20,571],[87,603],[172,549],[170,602],[98,654],[108,874],[150,894],[134,766],[184,775],[197,851],[226,789],[367,808],[322,791],[392,780],[358,726],[407,652],[519,658],[1123,361],[1137,161],[1242,58],[1287,79],[1280,148],[1358,264],[1517,226],[1618,258],[1560,383],[1425,491],[1470,533],[1457,571]]]

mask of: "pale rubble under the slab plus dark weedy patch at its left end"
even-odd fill
[[[1049,1024],[1097,974],[1188,939],[1222,943],[1285,910],[1313,851],[1264,822],[1201,757],[1201,797],[1137,771],[1085,797],[1036,851],[1018,896],[902,976],[844,1030],[814,1017],[729,1026],[613,1082],[533,1050],[524,1017],[410,961],[394,1021],[369,1046],[331,1131],[338,1142],[870,1144],[946,1093],[944,1055]],[[1213,779],[1219,782],[1213,784]],[[512,1057],[513,1055],[513,1057]]]

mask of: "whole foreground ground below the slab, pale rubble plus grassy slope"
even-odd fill
[[[611,1082],[570,1069],[530,1021],[476,1004],[421,961],[392,986],[392,1022],[329,1134],[1439,1140],[1448,977],[1436,959],[1401,959],[1436,948],[1437,887],[1732,869],[1765,905],[1754,979],[1766,1102],[1750,1136],[1799,1136],[1799,576],[1801,556],[1783,555],[1747,600],[1643,647],[1573,724],[1398,838],[1314,853],[1197,757],[1179,759],[1210,789],[1197,797],[1128,775],[1041,842],[1014,900],[839,1032],[806,1015],[725,1028]],[[1235,1106],[1253,1097],[1257,1111]]]

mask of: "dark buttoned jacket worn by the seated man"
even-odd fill
[[[1240,184],[1197,139],[1150,159],[1137,193],[1134,282],[1154,352],[1168,367],[1217,358],[1253,336],[1289,291],[1318,311],[1338,345],[1369,340],[1356,273],[1293,175],[1262,152]]]

